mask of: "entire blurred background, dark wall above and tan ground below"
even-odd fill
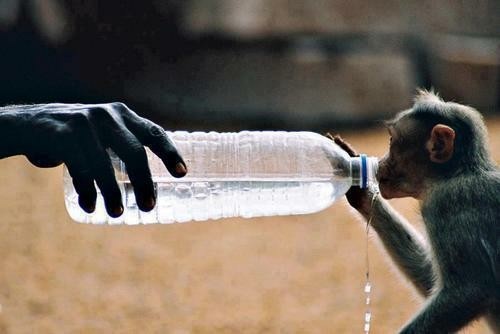
[[[416,87],[479,109],[500,161],[499,1],[0,0],[0,105],[122,101],[172,130],[329,130],[382,155],[378,121]],[[0,169],[0,333],[362,330],[364,226],[344,201],[86,226],[61,168]],[[394,205],[421,228],[417,203]],[[391,333],[422,301],[372,239],[372,332]]]

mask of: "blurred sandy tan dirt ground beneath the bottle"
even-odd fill
[[[500,118],[488,127],[500,161]],[[388,141],[344,136],[372,155]],[[0,333],[362,332],[364,225],[345,200],[307,216],[91,226],[66,214],[61,168],[16,157],[0,170]],[[421,228],[418,203],[393,203]],[[372,333],[394,333],[422,300],[371,239]]]

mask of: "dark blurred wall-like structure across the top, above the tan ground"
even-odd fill
[[[416,87],[500,107],[500,3],[0,1],[0,103],[122,100],[183,128],[326,129]]]

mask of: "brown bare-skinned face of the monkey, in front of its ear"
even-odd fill
[[[399,114],[387,123],[389,152],[380,160],[377,180],[384,198],[419,198],[425,188],[425,140],[414,121]]]

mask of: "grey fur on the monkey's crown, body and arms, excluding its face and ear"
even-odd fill
[[[372,225],[384,247],[428,298],[401,333],[450,333],[485,316],[500,333],[500,172],[486,143],[481,115],[421,92],[410,117],[422,126],[444,123],[457,132],[454,158],[436,167],[421,198],[429,244],[384,199]],[[441,168],[441,169],[440,169]]]

